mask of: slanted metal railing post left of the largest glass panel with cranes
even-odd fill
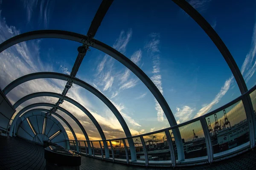
[[[207,156],[208,156],[208,162],[212,163],[213,162],[213,149],[212,149],[212,140],[211,136],[209,133],[209,129],[206,123],[206,120],[204,117],[200,118],[200,122],[204,131],[204,139],[205,139],[205,144],[206,144],[206,150],[207,150]]]

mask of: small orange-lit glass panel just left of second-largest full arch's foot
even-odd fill
[[[111,140],[115,159],[126,159],[125,146],[122,140]]]

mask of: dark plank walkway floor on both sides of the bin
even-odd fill
[[[0,170],[44,170],[44,147],[18,137],[0,136]],[[174,170],[255,170],[256,149],[213,164]],[[170,168],[127,166],[81,156],[80,170],[170,170]]]

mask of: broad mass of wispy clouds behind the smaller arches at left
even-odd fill
[[[6,24],[6,21],[1,16],[0,16],[0,26],[1,26],[0,42],[3,42],[10,37],[14,37],[17,34],[20,34],[20,31],[18,31],[14,26],[8,26]],[[1,60],[0,86],[1,88],[4,88],[7,84],[12,82],[13,80],[26,74],[40,72],[40,71],[54,71],[51,67],[41,62],[39,42],[40,41],[22,42],[0,53],[0,60]],[[65,68],[63,65],[59,67],[60,67],[59,69],[61,69],[61,71],[64,73],[69,72],[68,69]],[[51,68],[51,69],[45,70],[45,68],[47,69]],[[18,99],[20,99],[23,96],[27,94],[39,92],[39,91],[50,91],[55,93],[61,93],[65,84],[66,84],[65,81],[56,80],[56,79],[36,79],[29,82],[25,82],[17,86],[7,95],[7,97],[10,99],[12,103],[15,103]],[[72,99],[75,99],[76,101],[79,101],[81,105],[84,105],[84,107],[88,108],[88,110],[93,114],[93,116],[95,116],[96,120],[99,122],[102,129],[105,131],[109,131],[109,133],[105,134],[108,139],[111,138],[111,136],[124,137],[125,134],[122,130],[122,127],[118,122],[118,120],[115,118],[115,116],[113,116],[113,113],[112,112],[109,113],[108,115],[110,116],[102,116],[96,111],[94,111],[92,108],[95,108],[95,107],[93,107],[93,105],[90,103],[90,99],[87,99],[86,96],[81,95],[81,90],[82,90],[81,87],[74,85],[74,87],[70,89],[68,96]],[[30,105],[32,103],[49,102],[54,104],[55,102],[57,102],[57,100],[58,100],[57,98],[53,98],[53,97],[37,97],[34,99],[30,99],[24,102],[22,105],[20,105],[17,108],[17,112],[20,111],[20,109],[22,109],[26,105]],[[88,118],[88,116],[86,116],[79,108],[77,108],[75,105],[72,105],[67,101],[65,101],[61,105],[61,107],[66,108],[68,111],[70,111],[74,116],[76,116],[79,119],[81,124],[84,127],[86,127],[90,140],[100,139],[100,136],[98,131],[96,130],[96,127],[93,125],[93,123]],[[40,107],[40,108],[43,108],[43,107]],[[70,119],[69,116],[62,113],[61,111],[58,111],[58,113],[60,113],[61,116],[64,117],[64,119],[69,120],[71,126],[74,127],[76,135],[79,137],[79,139],[84,140],[84,136],[82,135],[79,127],[76,125],[76,122],[74,122],[72,119]],[[125,119],[128,121],[131,121],[132,123],[134,123],[134,125],[140,126],[130,116],[127,116],[126,114],[123,116],[124,117],[126,116]],[[65,128],[67,127],[65,125],[63,126]],[[69,134],[69,137],[72,138],[72,134],[68,129],[67,129],[67,133]]]

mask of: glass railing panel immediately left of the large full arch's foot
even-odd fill
[[[143,136],[148,151],[149,164],[150,161],[167,161],[171,160],[169,143],[167,142],[165,132],[155,133]]]

